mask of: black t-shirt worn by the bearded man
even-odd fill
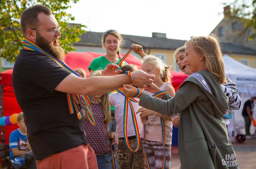
[[[70,114],[66,93],[54,90],[69,74],[50,57],[36,51],[20,50],[15,62],[14,93],[36,160],[87,144],[84,114],[81,120],[76,113]]]

